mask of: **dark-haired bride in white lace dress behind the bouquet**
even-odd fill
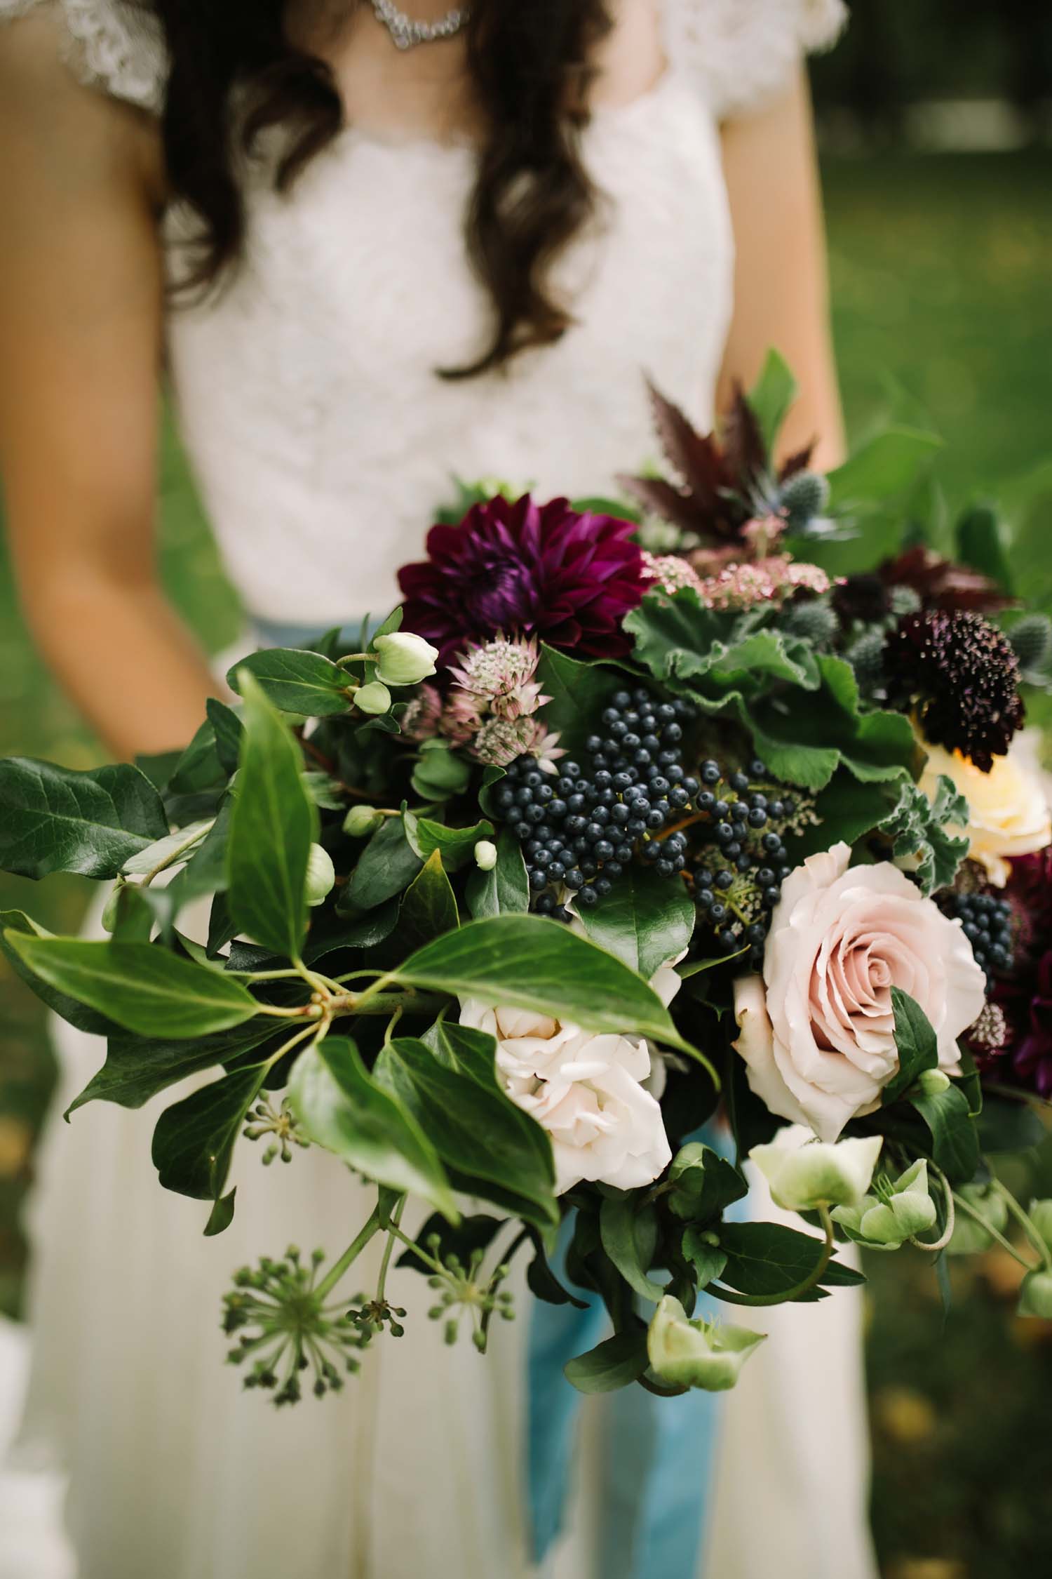
[[[256,641],[391,606],[453,472],[612,488],[653,452],[644,373],[705,426],[776,344],[803,384],[785,444],[836,463],[800,58],[841,0],[5,17],[11,540],[41,651],[118,753],[189,739],[216,685],[155,573],[162,368]],[[69,1026],[60,1053],[58,1110],[99,1061]],[[577,1431],[577,1312],[486,1363],[421,1322],[279,1415],[210,1312],[233,1266],[342,1243],[355,1186],[243,1146],[233,1225],[202,1240],[145,1135],[91,1105],[41,1157],[24,1438],[69,1475],[80,1579],[872,1573],[852,1295],[773,1314],[719,1453],[707,1394],[590,1401]]]

